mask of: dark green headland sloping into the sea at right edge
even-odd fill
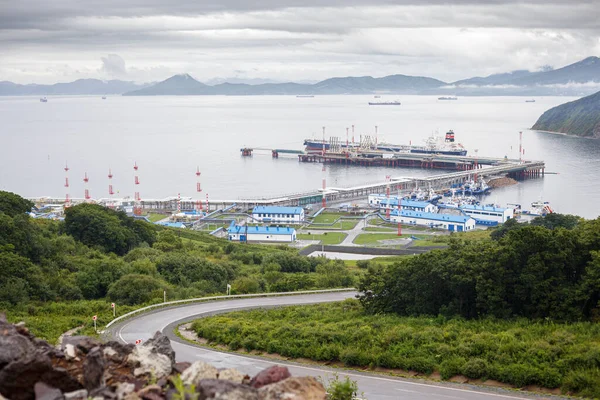
[[[600,138],[600,92],[551,108],[531,129]]]

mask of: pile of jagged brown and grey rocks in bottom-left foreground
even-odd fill
[[[60,348],[36,339],[0,314],[0,399],[10,400],[324,400],[314,378],[274,366],[251,378],[202,361],[176,363],[157,332],[142,345],[65,337]]]

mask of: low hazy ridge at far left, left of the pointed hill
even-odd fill
[[[78,79],[69,83],[55,83],[54,85],[19,85],[17,83],[0,82],[0,96],[50,96],[50,95],[105,95],[122,94],[143,88],[134,82],[99,79]]]

